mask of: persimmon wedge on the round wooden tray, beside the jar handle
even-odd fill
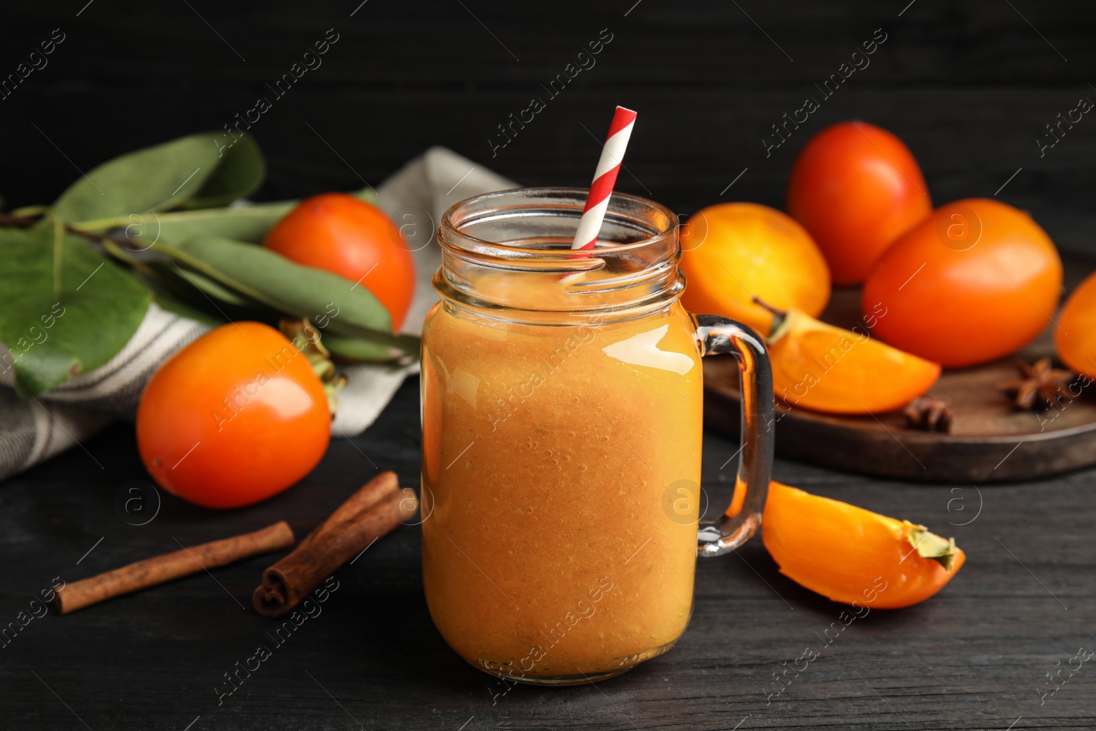
[[[866,331],[835,328],[788,310],[768,339],[773,391],[791,406],[830,413],[891,411],[927,391],[940,366]]]

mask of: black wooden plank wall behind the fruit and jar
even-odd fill
[[[909,4],[907,4],[909,3]],[[60,27],[66,39],[0,101],[0,193],[43,203],[129,149],[221,129],[269,96],[253,125],[271,162],[264,197],[376,184],[431,145],[528,184],[589,182],[613,105],[640,112],[620,187],[687,213],[717,201],[784,202],[803,141],[861,118],[913,149],[933,198],[998,194],[1064,247],[1092,245],[1096,121],[1040,157],[1037,139],[1096,101],[1096,12],[1084,2],[766,3],[754,0],[65,0],[5,3],[0,73]],[[77,13],[80,13],[77,16]],[[352,14],[353,13],[353,14]],[[900,14],[901,13],[901,14]],[[339,41],[284,96],[273,83],[334,28]],[[548,99],[608,28],[596,65]],[[814,84],[882,28],[842,90]],[[766,158],[770,125],[807,96],[821,108]],[[547,108],[492,158],[498,125]],[[583,128],[585,127],[585,129]],[[1063,127],[1065,128],[1065,127]],[[589,130],[589,132],[587,132]],[[743,169],[746,173],[729,191]]]

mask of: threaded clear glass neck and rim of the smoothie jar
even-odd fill
[[[614,193],[602,245],[571,249],[589,193],[518,187],[452,206],[438,230],[434,288],[478,317],[527,323],[626,320],[676,301],[685,286],[677,216],[653,201]]]

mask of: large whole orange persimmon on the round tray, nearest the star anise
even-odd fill
[[[1028,214],[987,198],[940,206],[864,283],[864,312],[894,347],[961,367],[1013,353],[1050,324],[1062,260]]]

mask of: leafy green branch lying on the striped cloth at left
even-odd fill
[[[296,202],[226,207],[259,189],[266,165],[251,137],[224,155],[218,137],[123,155],[50,206],[0,213],[0,256],[10,263],[0,267],[0,341],[10,351],[0,372],[14,368],[18,392],[37,396],[105,364],[152,299],[210,324],[338,312],[321,329],[336,355],[418,356],[419,339],[393,334],[368,289],[255,245]]]

